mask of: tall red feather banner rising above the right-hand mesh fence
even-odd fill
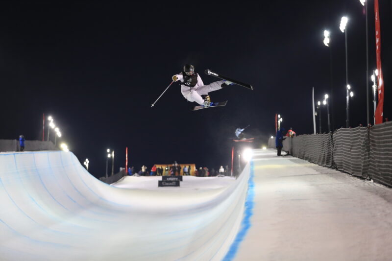
[[[381,69],[381,30],[380,30],[380,16],[378,12],[378,0],[374,0],[374,15],[376,22],[376,56],[377,56],[377,70],[378,70],[378,104],[376,108],[376,124],[383,123],[383,106],[384,106],[384,78]]]

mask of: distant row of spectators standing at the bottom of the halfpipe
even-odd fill
[[[181,173],[182,170],[182,173]],[[143,165],[138,172],[135,172],[135,168],[128,167],[128,175],[132,176],[134,174],[138,174],[140,176],[179,176],[179,175],[185,175],[189,176],[191,175],[191,166],[181,166],[177,164],[177,162],[174,162],[172,166],[158,166],[156,167],[155,165],[151,167],[151,169],[148,170],[147,166]],[[229,175],[229,166],[220,166],[218,170],[215,170],[212,168],[211,170],[208,167],[199,167],[198,169],[195,169],[195,176],[197,177],[213,177],[217,175]]]

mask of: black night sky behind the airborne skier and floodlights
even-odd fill
[[[392,6],[380,0],[384,116],[392,119]],[[369,73],[375,64],[374,2],[368,7]],[[115,172],[125,165],[195,163],[229,165],[234,131],[254,147],[274,135],[274,117],[297,134],[313,132],[316,100],[331,95],[335,128],[345,126],[345,49],[340,19],[346,15],[348,79],[354,97],[351,126],[366,125],[366,23],[359,0],[161,1],[152,3],[10,1],[0,6],[0,139],[42,139],[42,115],[51,115],[90,172],[103,176],[106,149]],[[323,31],[331,31],[330,50]],[[210,93],[225,107],[192,112],[172,75],[191,63],[205,84],[218,71],[249,83]],[[371,82],[369,82],[369,88]],[[371,93],[370,93],[371,94]],[[369,101],[372,106],[371,101]],[[372,107],[370,107],[371,109]],[[323,131],[326,131],[323,109]],[[372,114],[370,114],[372,122]],[[53,134],[53,132],[52,132]],[[53,137],[53,135],[52,135]],[[110,166],[110,165],[109,165]]]

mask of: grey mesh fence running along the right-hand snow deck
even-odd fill
[[[269,147],[272,140],[269,139]],[[391,121],[370,128],[300,135],[285,142],[283,150],[291,149],[294,157],[392,187]]]

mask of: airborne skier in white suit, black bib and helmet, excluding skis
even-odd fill
[[[181,82],[181,94],[189,101],[196,101],[198,104],[209,107],[214,106],[211,102],[209,92],[220,90],[226,86],[233,85],[231,81],[216,81],[208,85],[204,85],[200,75],[195,72],[195,67],[191,64],[186,64],[179,74],[172,76],[173,81]],[[201,95],[206,95],[205,98]]]

